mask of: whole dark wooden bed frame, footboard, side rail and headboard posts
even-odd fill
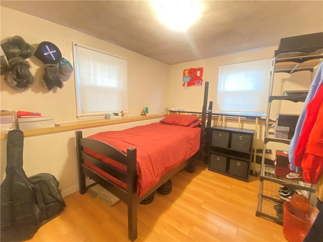
[[[85,194],[87,189],[99,184],[100,186],[104,187],[109,192],[113,193],[117,196],[120,200],[125,202],[128,205],[128,237],[131,241],[134,241],[137,238],[137,204],[147,198],[151,193],[157,190],[161,185],[166,183],[168,179],[174,176],[177,172],[182,170],[185,167],[193,166],[193,162],[196,156],[198,159],[205,159],[208,156],[208,149],[209,149],[209,137],[210,137],[210,126],[211,126],[211,113],[212,113],[212,102],[209,102],[208,109],[207,106],[207,93],[208,93],[208,82],[205,82],[205,89],[204,89],[204,100],[203,100],[203,108],[202,112],[193,112],[195,114],[201,114],[201,136],[200,136],[200,149],[199,151],[193,155],[189,160],[182,163],[178,167],[171,170],[169,173],[165,174],[163,177],[160,178],[158,183],[149,189],[143,196],[140,198],[137,196],[136,188],[137,188],[137,151],[135,148],[128,148],[127,154],[117,150],[113,146],[109,144],[103,143],[101,141],[93,140],[93,139],[86,139],[82,137],[81,131],[75,132],[76,138],[76,148],[77,148],[77,160],[78,160],[78,173],[79,173],[79,187],[80,187],[80,194]],[[188,112],[190,113],[190,112]],[[91,149],[97,153],[100,153],[106,157],[114,159],[127,167],[127,172],[120,171],[119,169],[114,168],[113,166],[103,163],[100,160],[86,154],[83,151],[83,148]],[[118,178],[119,180],[123,181],[127,185],[127,190],[120,188],[119,186],[115,185],[108,179],[104,178],[103,176],[99,175],[92,169],[88,168],[84,165],[83,160],[86,160],[98,168],[102,169],[106,173],[111,174],[112,176]],[[191,171],[195,169],[191,168]],[[95,181],[94,184],[86,186],[85,184],[85,175],[90,177]]]

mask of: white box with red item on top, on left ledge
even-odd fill
[[[54,118],[51,116],[43,117],[21,117],[18,119],[18,127],[20,130],[34,130],[55,127]]]

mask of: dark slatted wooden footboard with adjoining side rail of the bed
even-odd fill
[[[160,178],[158,183],[148,190],[143,196],[138,198],[136,193],[137,188],[137,160],[136,160],[136,149],[128,148],[127,154],[122,153],[113,146],[103,143],[98,140],[88,139],[82,137],[81,131],[75,132],[76,137],[76,146],[77,146],[77,159],[78,159],[78,173],[79,173],[79,187],[80,193],[85,194],[87,189],[95,184],[99,184],[104,187],[106,190],[109,190],[120,200],[125,202],[128,205],[128,237],[131,241],[134,241],[137,238],[137,204],[148,197],[152,192],[157,190],[161,185],[166,183],[168,179],[174,176],[177,172],[182,170],[184,167],[189,165],[193,159],[189,159],[186,162],[182,163],[166,175]],[[83,148],[88,148],[95,151],[105,157],[109,157],[115,161],[126,165],[127,171],[121,171],[109,164],[106,164],[93,156],[85,153]],[[101,176],[97,172],[88,168],[84,165],[84,160],[95,165],[106,173],[118,178],[127,185],[127,190],[122,189],[121,187],[115,185],[110,180]],[[86,186],[85,184],[85,175],[93,179],[96,183]]]

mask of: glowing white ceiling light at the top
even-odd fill
[[[187,30],[202,14],[200,0],[151,0],[159,20],[175,31]]]

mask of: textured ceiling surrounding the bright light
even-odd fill
[[[202,17],[186,32],[161,24],[149,1],[1,0],[0,5],[170,65],[323,32],[323,1],[203,1]]]

